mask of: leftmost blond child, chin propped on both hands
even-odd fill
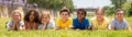
[[[22,30],[24,29],[24,23],[21,21],[21,13],[19,10],[14,10],[11,13],[11,21],[7,23],[8,30]]]

